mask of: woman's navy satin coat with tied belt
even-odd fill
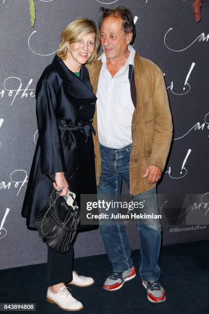
[[[35,228],[33,215],[53,190],[46,174],[65,172],[78,205],[81,193],[96,193],[91,125],[95,102],[87,68],[81,66],[77,77],[55,55],[36,86],[39,137],[22,209],[29,228]]]

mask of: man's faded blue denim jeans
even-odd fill
[[[97,188],[98,199],[107,198],[107,194],[114,194],[119,197],[121,193],[122,179],[128,187],[129,179],[129,161],[132,145],[121,149],[114,149],[102,146],[101,152],[101,176]],[[106,195],[106,196],[105,196]],[[132,198],[133,201],[145,201],[142,213],[158,214],[156,189],[140,193]],[[139,209],[136,209],[138,211]],[[115,212],[115,209],[110,208]],[[99,209],[99,213],[104,212]],[[137,213],[137,212],[136,212]],[[110,221],[110,219],[109,219]],[[159,219],[155,220],[137,220],[137,226],[140,239],[140,262],[139,271],[143,280],[159,280],[160,268],[158,265],[160,246],[161,246],[161,224]],[[127,238],[126,230],[121,219],[99,220],[99,228],[105,244],[109,262],[113,266],[113,271],[124,271],[133,266],[131,258],[131,247]]]

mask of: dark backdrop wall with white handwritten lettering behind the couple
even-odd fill
[[[200,194],[208,199],[209,4],[203,3],[202,21],[196,24],[192,3],[35,0],[36,23],[32,28],[27,0],[0,0],[0,268],[46,261],[46,246],[36,231],[27,230],[20,215],[37,140],[35,86],[54,56],[62,29],[78,16],[98,21],[100,6],[131,9],[137,32],[134,48],[165,74],[174,141],[158,192]],[[193,208],[202,217],[197,219],[198,227],[194,221],[193,227],[187,228],[163,226],[163,244],[208,239],[209,199],[205,203]],[[136,228],[129,226],[127,231],[132,248],[138,248]],[[78,235],[76,257],[99,253],[105,249],[98,230]]]

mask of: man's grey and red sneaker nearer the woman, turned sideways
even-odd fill
[[[122,288],[125,282],[132,280],[136,277],[135,267],[131,267],[125,271],[113,271],[103,285],[103,289],[108,291],[115,291]]]

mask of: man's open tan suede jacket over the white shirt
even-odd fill
[[[132,119],[130,193],[136,195],[156,186],[156,183],[148,184],[148,178],[143,178],[143,174],[148,164],[155,165],[163,171],[172,141],[173,125],[162,71],[152,61],[139,56],[138,53],[135,55],[134,64],[137,102]],[[101,66],[101,60],[87,66],[95,95]],[[98,185],[101,156],[96,111],[93,126],[96,130],[93,139]]]

